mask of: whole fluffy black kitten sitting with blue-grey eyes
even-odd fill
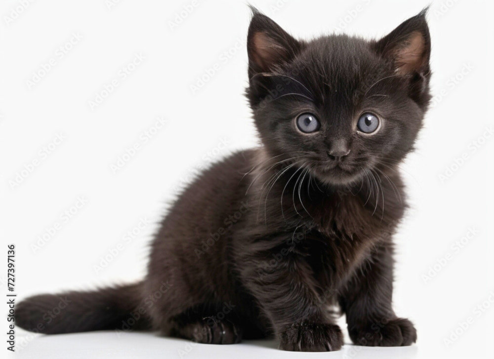
[[[397,164],[430,100],[425,12],[378,41],[301,41],[253,10],[247,97],[263,146],[182,193],[142,282],[31,297],[16,323],[215,344],[274,335],[284,350],[333,351],[343,335],[329,308],[339,304],[356,344],[415,342],[391,307],[391,236],[406,207]],[[69,304],[46,317],[60,297]]]

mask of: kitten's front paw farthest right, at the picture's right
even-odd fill
[[[348,331],[355,344],[368,347],[400,347],[417,341],[417,331],[412,322],[403,318],[371,323],[364,328],[356,327]]]

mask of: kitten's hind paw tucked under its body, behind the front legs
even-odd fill
[[[212,306],[216,307],[216,306]],[[203,344],[236,344],[242,340],[239,320],[225,311],[204,310],[206,306],[189,309],[171,319],[170,335]]]

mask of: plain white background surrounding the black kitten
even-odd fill
[[[1,4],[0,228],[3,255],[3,243],[16,244],[19,299],[142,278],[148,243],[177,190],[209,161],[257,144],[243,97],[250,16],[245,1],[197,0],[192,12],[173,27],[170,22],[192,1],[122,0],[110,7],[108,2],[34,1],[26,8],[22,1]],[[341,28],[381,37],[429,1],[251,3],[294,36],[310,39]],[[492,1],[460,0],[433,1],[428,15],[436,97],[417,151],[402,165],[411,209],[396,236],[394,292],[397,313],[416,324],[417,344],[345,345],[341,352],[314,357],[493,357],[494,303],[486,302],[489,308],[480,316],[475,311],[494,290],[494,140],[484,137],[485,128],[494,123],[492,16]],[[67,45],[73,33],[82,39]],[[65,45],[71,48],[61,57],[59,48]],[[122,81],[118,72],[135,54],[145,59]],[[55,65],[29,86],[33,72],[52,58]],[[219,70],[193,92],[191,85],[216,63]],[[120,85],[91,109],[89,101],[114,79]],[[143,143],[140,136],[153,130],[158,116],[167,123]],[[66,138],[42,158],[39,151],[60,133]],[[482,145],[474,151],[473,141],[479,138]],[[111,165],[135,142],[141,144],[139,151],[113,173]],[[466,160],[457,166],[455,159],[465,153]],[[15,182],[17,173],[37,159],[39,165],[21,183]],[[447,168],[454,171],[441,180]],[[63,221],[61,213],[81,196],[87,203]],[[127,244],[123,237],[141,218],[150,223]],[[34,250],[38,237],[57,222],[61,228]],[[452,245],[472,227],[478,233],[455,250]],[[96,273],[101,257],[121,242],[123,250]],[[437,265],[447,256],[449,260]],[[426,280],[424,276],[434,274],[429,273],[434,265],[434,278]],[[5,277],[3,268],[2,295]],[[5,305],[1,310],[6,314]],[[447,346],[444,339],[468,317],[473,323]],[[4,333],[7,322],[2,320]],[[277,351],[273,341],[189,347],[187,341],[145,333],[21,340],[26,334],[17,331],[26,358],[53,358],[55,353],[64,358],[180,358],[179,350],[187,358],[302,355]]]

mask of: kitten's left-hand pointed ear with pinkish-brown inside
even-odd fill
[[[274,66],[292,59],[301,44],[277,23],[256,8],[251,7],[252,19],[247,35],[249,79],[262,72],[270,72]]]

